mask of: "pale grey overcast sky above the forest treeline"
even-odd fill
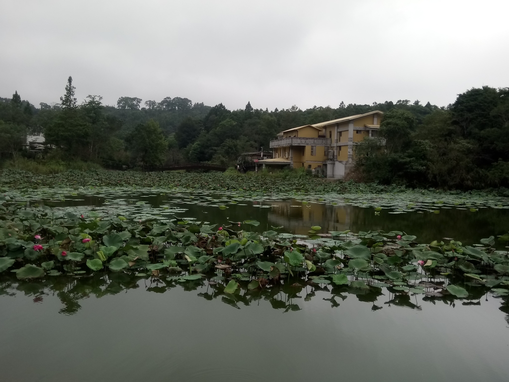
[[[0,0],[0,96],[233,110],[509,86],[507,0]]]

